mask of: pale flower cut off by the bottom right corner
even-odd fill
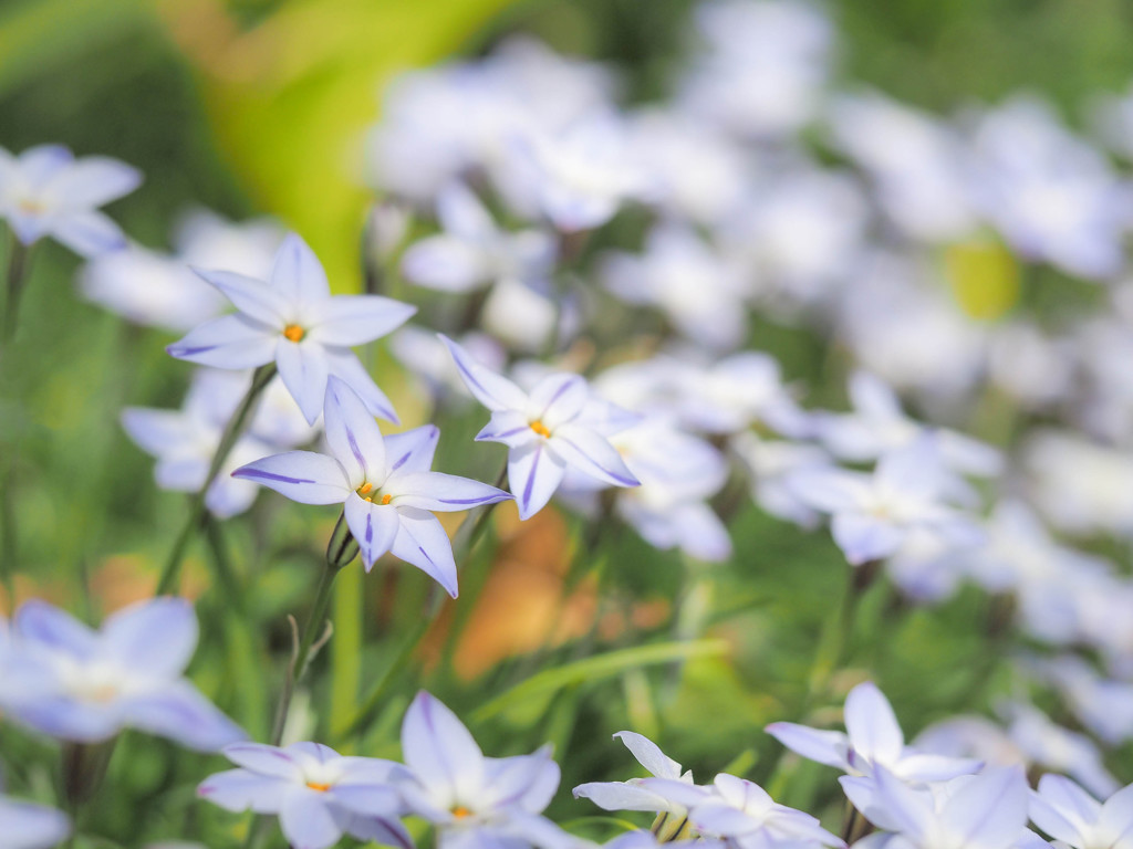
[[[1105,803],[1063,775],[1043,775],[1031,795],[1031,820],[1074,849],[1128,849],[1133,846],[1133,784]]]

